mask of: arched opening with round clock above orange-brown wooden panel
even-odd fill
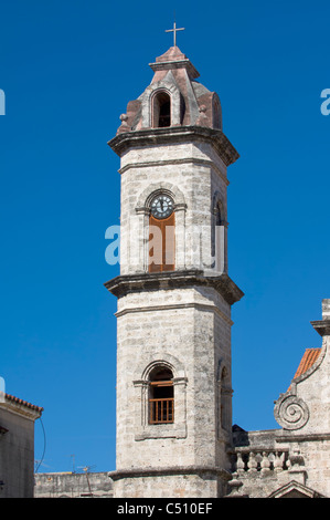
[[[173,271],[175,263],[175,218],[173,199],[153,196],[149,217],[149,272]]]

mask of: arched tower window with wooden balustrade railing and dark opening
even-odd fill
[[[149,377],[149,424],[169,423],[174,423],[173,374],[158,366]]]

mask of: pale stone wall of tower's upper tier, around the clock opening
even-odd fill
[[[226,167],[211,144],[191,138],[129,149],[121,157],[120,273],[148,270],[147,199],[159,189],[175,205],[175,269],[211,263],[212,205],[226,208]],[[224,260],[226,264],[226,258]]]

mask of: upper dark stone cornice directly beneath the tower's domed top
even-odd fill
[[[120,157],[131,147],[152,147],[153,145],[196,141],[209,142],[226,166],[235,163],[239,157],[237,150],[222,131],[204,126],[170,126],[167,128],[126,132],[109,141],[108,145]]]

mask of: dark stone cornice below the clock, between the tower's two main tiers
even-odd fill
[[[215,289],[230,305],[239,301],[244,295],[227,274],[222,273],[217,277],[205,277],[203,271],[200,270],[125,274],[105,283],[107,290],[117,298],[131,292],[201,285]]]

